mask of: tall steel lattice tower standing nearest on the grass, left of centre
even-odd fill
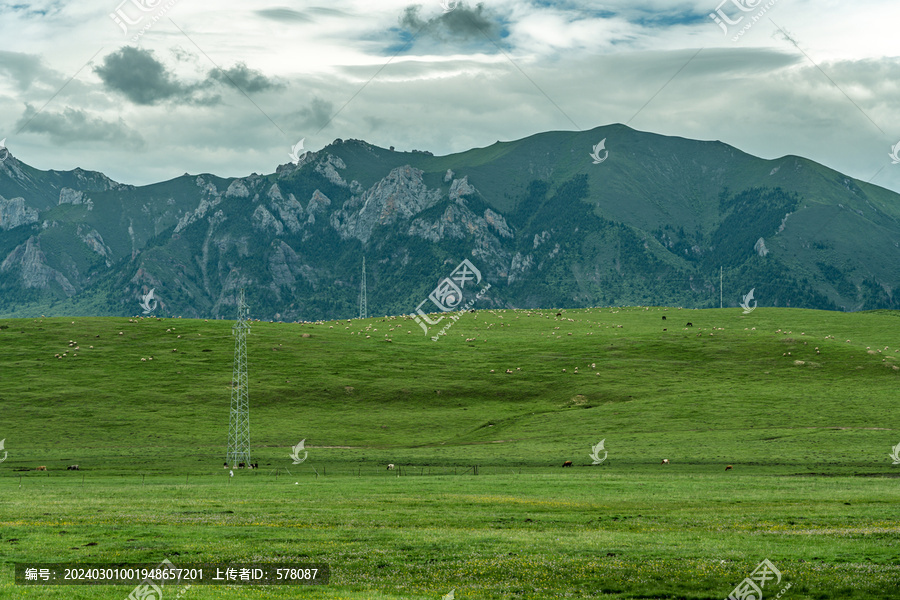
[[[250,464],[250,390],[247,379],[247,334],[250,309],[244,301],[244,288],[238,299],[238,320],[234,333],[234,372],[231,376],[231,416],[228,423],[228,454],[231,466]]]

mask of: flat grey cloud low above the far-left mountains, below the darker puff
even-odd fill
[[[128,127],[120,118],[116,122],[104,121],[87,111],[66,107],[63,112],[37,112],[26,105],[17,127],[28,124],[29,133],[44,133],[60,145],[81,142],[113,142],[117,146],[143,149],[146,142],[141,135]]]

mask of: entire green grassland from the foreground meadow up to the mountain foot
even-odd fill
[[[233,478],[232,322],[0,321],[0,598],[133,589],[16,562],[166,558],[331,569],[186,600],[722,599],[763,559],[765,598],[900,597],[898,313],[557,312],[254,323]]]

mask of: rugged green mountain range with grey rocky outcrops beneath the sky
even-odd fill
[[[355,318],[364,257],[370,315],[463,296],[474,308],[900,304],[900,195],[798,156],[615,124],[448,156],[338,139],[298,158],[133,186],[7,154],[0,315],[135,315],[153,290],[158,316],[234,318],[244,288],[255,318]],[[477,301],[452,276],[464,259],[490,284]]]

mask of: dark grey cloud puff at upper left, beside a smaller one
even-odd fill
[[[192,100],[197,86],[186,85],[173,77],[156,60],[153,52],[125,46],[106,55],[103,64],[94,67],[107,88],[120,92],[135,104],[153,105],[165,100]]]

